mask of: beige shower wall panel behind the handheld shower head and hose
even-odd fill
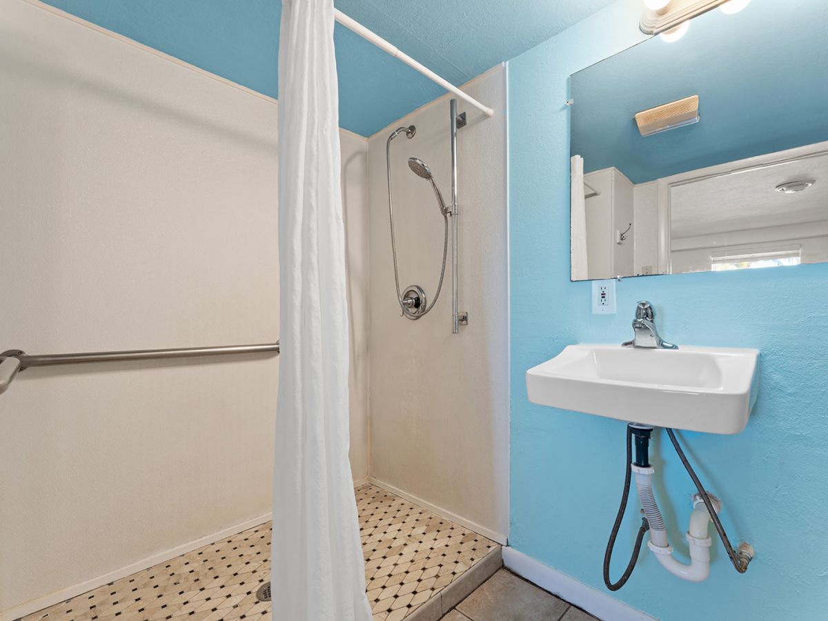
[[[451,334],[446,277],[434,310],[400,317],[388,232],[385,145],[398,125],[416,137],[392,142],[392,179],[401,286],[434,295],[443,220],[428,183],[408,156],[431,166],[450,195],[448,98],[438,99],[368,140],[370,209],[371,476],[477,532],[508,532],[508,248],[506,70],[474,79],[468,92],[495,109],[484,118],[460,102],[460,309],[469,325]],[[450,272],[449,272],[450,273]]]

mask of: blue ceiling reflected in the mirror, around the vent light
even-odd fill
[[[710,11],[679,41],[654,37],[572,77],[572,152],[586,172],[618,166],[633,183],[828,140],[828,2],[751,2]],[[788,88],[800,95],[791,97]],[[701,123],[642,137],[639,110],[700,96]],[[805,95],[806,94],[806,95]]]

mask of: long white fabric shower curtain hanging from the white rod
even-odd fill
[[[349,331],[338,105],[333,0],[284,0],[274,621],[371,619],[348,460]]]

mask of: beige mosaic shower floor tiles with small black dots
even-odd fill
[[[498,544],[371,484],[356,489],[374,621],[401,621]],[[23,621],[271,619],[270,523],[77,595]]]

